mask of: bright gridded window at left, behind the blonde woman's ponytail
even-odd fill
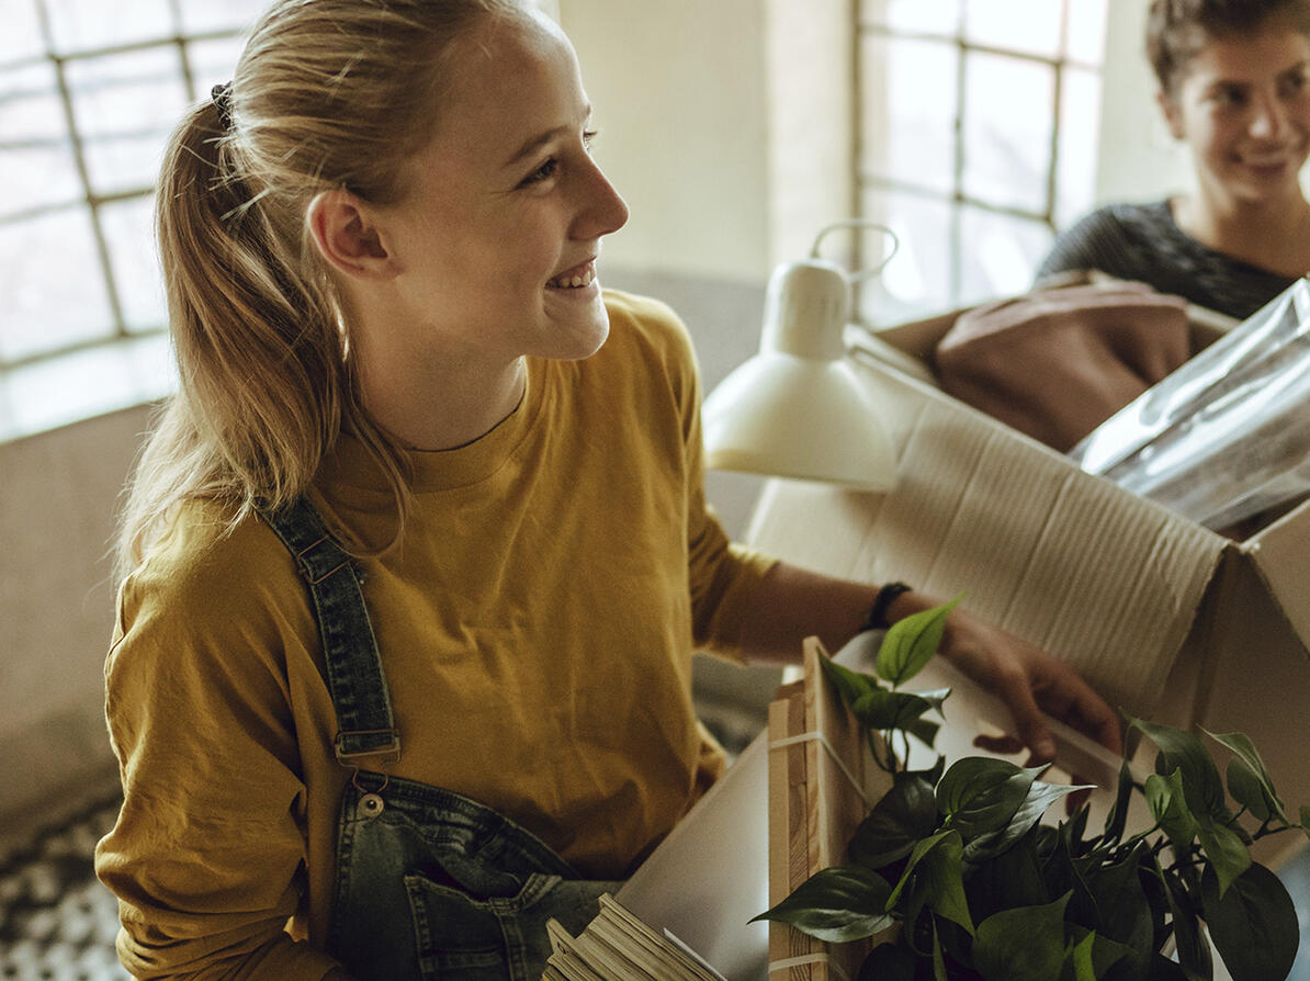
[[[106,382],[166,363],[151,228],[160,160],[186,106],[231,77],[241,33],[262,7],[262,0],[7,5],[0,432],[76,418],[94,409]],[[55,359],[63,363],[58,372]]]

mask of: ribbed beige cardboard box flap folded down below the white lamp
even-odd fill
[[[930,386],[878,364],[859,373],[897,445],[897,487],[770,485],[752,541],[838,575],[964,592],[979,616],[1148,714],[1226,540]]]

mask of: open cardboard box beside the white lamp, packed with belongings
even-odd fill
[[[834,575],[965,593],[1128,713],[1247,732],[1290,812],[1310,804],[1310,503],[1233,541],[1083,473],[931,384],[930,352],[962,312],[853,337],[897,448],[896,489],[772,481],[749,542]]]

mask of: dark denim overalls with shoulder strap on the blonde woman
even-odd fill
[[[621,883],[580,879],[474,800],[363,768],[400,760],[401,741],[362,574],[308,500],[261,516],[309,584],[337,760],[352,770],[337,825],[328,952],[360,981],[538,981],[550,955],[546,921],[582,933],[600,895]]]

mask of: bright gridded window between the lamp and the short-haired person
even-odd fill
[[[1106,0],[854,7],[858,207],[901,242],[861,289],[862,318],[1026,289],[1093,202]]]

